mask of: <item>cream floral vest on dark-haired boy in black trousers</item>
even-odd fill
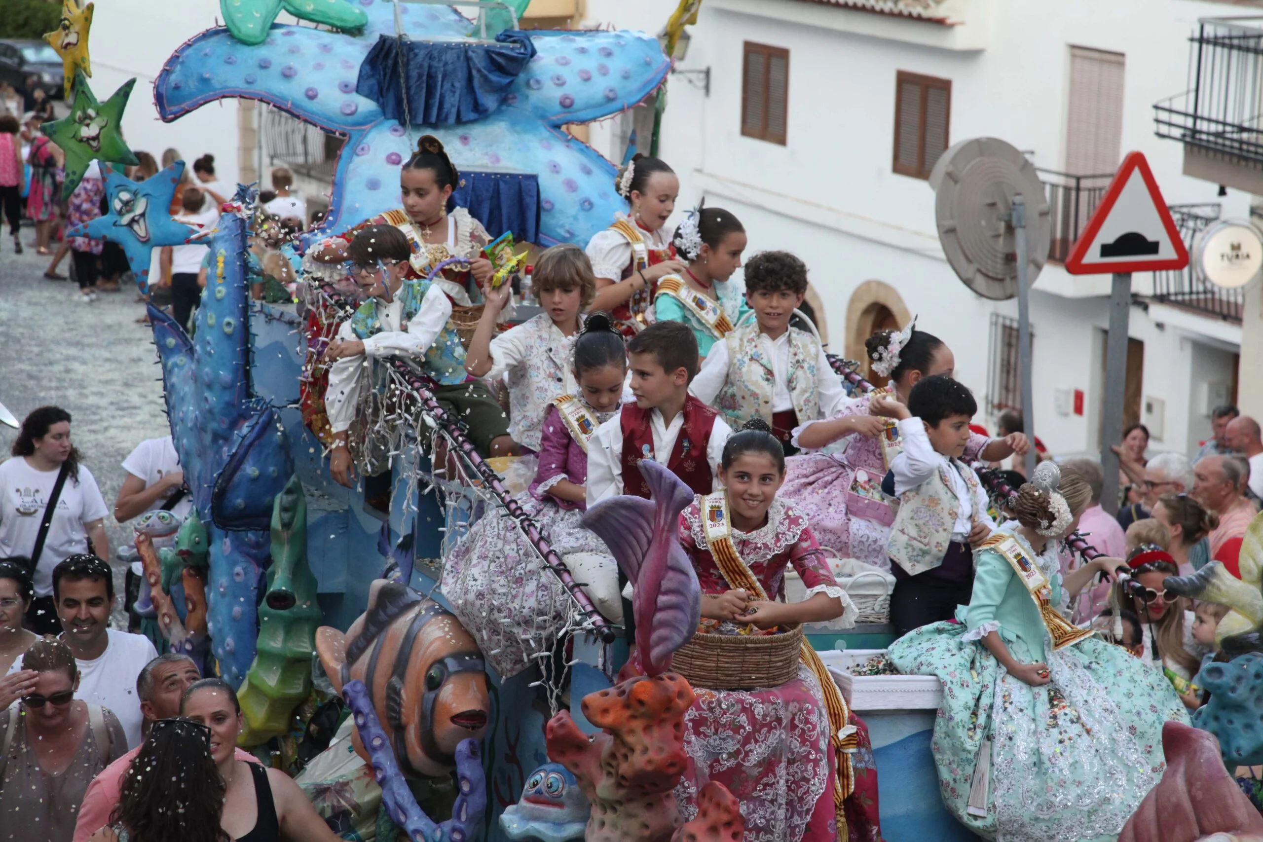
[[[969,486],[970,495],[978,491],[978,477],[961,462],[952,460],[952,466],[960,468]],[[887,552],[890,559],[911,576],[932,571],[943,563],[947,545],[951,543],[956,516],[960,514],[960,500],[951,490],[947,466],[918,485],[909,489],[899,499],[899,510],[890,526]],[[978,506],[974,506],[974,521],[978,521]]]

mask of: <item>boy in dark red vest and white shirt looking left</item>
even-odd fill
[[[587,505],[629,494],[649,497],[637,468],[662,462],[695,494],[719,487],[716,473],[731,430],[688,394],[697,374],[697,338],[682,322],[655,322],[628,343],[634,404],[601,424],[587,447]]]

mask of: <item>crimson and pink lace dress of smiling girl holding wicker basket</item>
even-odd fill
[[[811,598],[827,593],[855,607],[830,573],[807,520],[779,500],[768,521],[750,533],[730,528],[725,492],[700,496],[679,520],[679,542],[706,595],[744,588],[755,598],[783,595],[784,571],[793,567]],[[768,634],[753,626],[703,620],[698,634]],[[877,773],[868,733],[808,644],[796,678],[779,687],[715,691],[697,685],[685,716],[688,769],[676,789],[691,819],[697,793],[719,781],[741,802],[745,842],[878,838]],[[839,768],[839,759],[841,768]],[[851,797],[861,793],[863,798]],[[845,809],[844,809],[845,799]]]

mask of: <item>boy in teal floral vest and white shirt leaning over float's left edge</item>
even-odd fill
[[[360,389],[368,379],[368,359],[410,357],[433,381],[440,405],[469,427],[470,441],[482,456],[513,452],[509,422],[481,381],[465,371],[465,346],[451,322],[452,303],[443,290],[424,280],[405,280],[412,247],[392,225],[370,225],[346,249],[351,279],[368,295],[337,331],[325,351],[332,365],[325,409],[333,432],[330,472],[351,487],[354,471],[347,430],[355,420]]]

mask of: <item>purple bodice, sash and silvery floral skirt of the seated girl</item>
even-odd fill
[[[554,497],[548,490],[562,480],[586,483],[589,441],[614,415],[597,413],[582,398],[553,400],[543,424],[534,482],[519,499],[577,581],[591,586],[608,579],[611,590],[618,581],[614,558],[601,539],[578,523],[587,506]],[[442,591],[500,678],[529,667],[529,658],[554,639],[570,615],[570,596],[561,582],[543,568],[539,553],[517,523],[496,513],[474,524],[447,557]],[[606,614],[619,605],[616,597],[608,603],[599,601]]]

